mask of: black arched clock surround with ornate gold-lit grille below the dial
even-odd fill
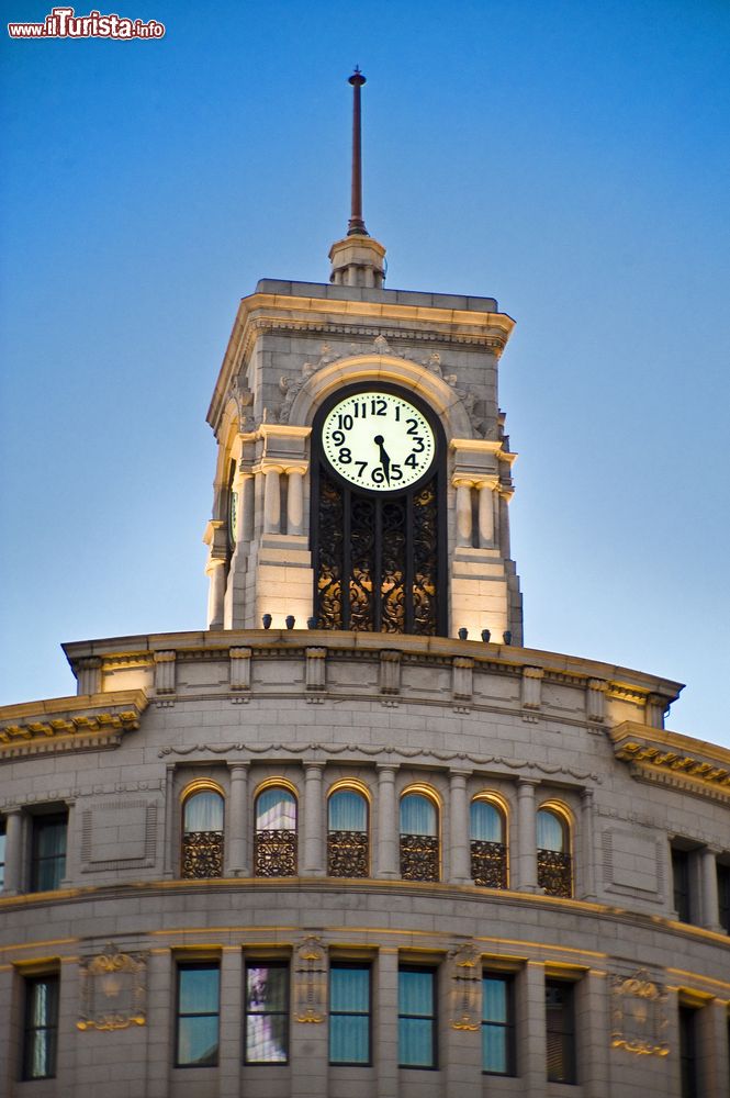
[[[359,488],[332,468],[322,444],[328,413],[359,393],[390,393],[413,405],[435,439],[428,469],[398,491]],[[314,616],[326,629],[448,634],[446,437],[434,408],[378,378],[332,392],[314,417],[311,535]]]

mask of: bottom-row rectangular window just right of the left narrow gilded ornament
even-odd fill
[[[370,1064],[370,965],[329,968],[329,1063]]]

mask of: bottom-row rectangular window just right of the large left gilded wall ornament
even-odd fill
[[[176,1067],[217,1064],[220,983],[215,962],[178,965]]]

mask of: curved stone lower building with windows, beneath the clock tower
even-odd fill
[[[730,754],[662,727],[677,684],[310,630],[67,654],[79,697],[0,712],[2,1093],[727,1096]]]

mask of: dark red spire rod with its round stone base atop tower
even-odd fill
[[[336,285],[361,285],[379,290],[385,278],[385,248],[368,234],[362,220],[362,145],[360,89],[366,82],[355,66],[348,78],[352,85],[352,182],[350,220],[347,236],[336,240],[329,249],[332,272],[329,281]]]

